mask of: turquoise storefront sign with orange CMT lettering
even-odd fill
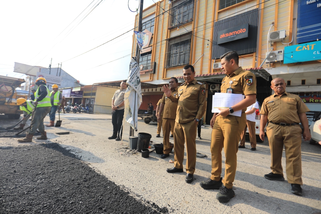
[[[284,64],[314,60],[321,60],[321,41],[284,47]]]

